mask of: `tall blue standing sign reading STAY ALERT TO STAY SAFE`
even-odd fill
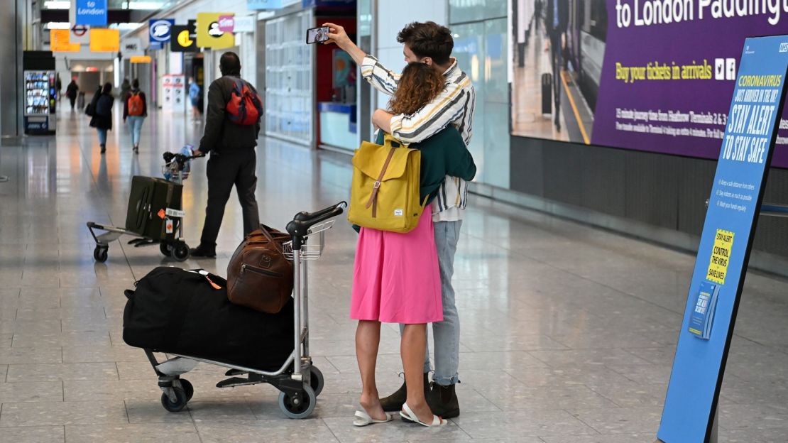
[[[745,39],[657,437],[709,441],[775,147],[788,35]]]

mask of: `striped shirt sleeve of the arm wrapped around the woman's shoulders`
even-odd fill
[[[395,115],[391,119],[392,136],[403,143],[418,143],[440,132],[452,121],[457,121],[468,112],[473,97],[466,91],[470,80],[446,84],[432,102],[427,103],[415,114]]]

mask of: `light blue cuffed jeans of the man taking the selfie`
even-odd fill
[[[429,206],[426,208],[429,210]],[[438,385],[455,385],[459,382],[459,315],[455,304],[452,275],[454,255],[459,241],[459,229],[463,221],[436,221],[435,246],[440,268],[440,293],[443,299],[443,322],[433,323],[433,348],[435,350],[435,374],[433,382]],[[400,332],[404,326],[400,325]],[[429,372],[429,343],[424,356],[424,372]]]

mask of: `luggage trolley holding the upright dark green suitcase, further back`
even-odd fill
[[[183,184],[184,180],[189,177],[190,161],[194,158],[204,156],[205,154],[191,155],[191,146],[184,147],[178,154],[165,152],[163,155],[165,164],[162,166],[162,173],[168,181],[172,181],[175,184]],[[96,247],[93,250],[93,258],[97,262],[106,262],[109,255],[110,241],[117,240],[122,235],[128,235],[137,237],[128,241],[128,244],[133,244],[135,248],[158,244],[159,251],[161,251],[163,255],[172,257],[178,262],[184,262],[189,258],[189,247],[183,240],[183,217],[185,214],[181,209],[167,209],[166,216],[177,220],[177,237],[172,241],[144,236],[143,234],[135,233],[117,226],[99,225],[94,221],[88,221],[87,229],[91,231],[91,236],[93,236],[93,240],[96,242]],[[106,231],[106,233],[96,235],[95,229]]]

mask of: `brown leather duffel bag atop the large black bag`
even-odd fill
[[[293,291],[293,264],[282,244],[290,240],[266,225],[252,231],[238,245],[227,265],[227,298],[255,311],[276,314]]]

